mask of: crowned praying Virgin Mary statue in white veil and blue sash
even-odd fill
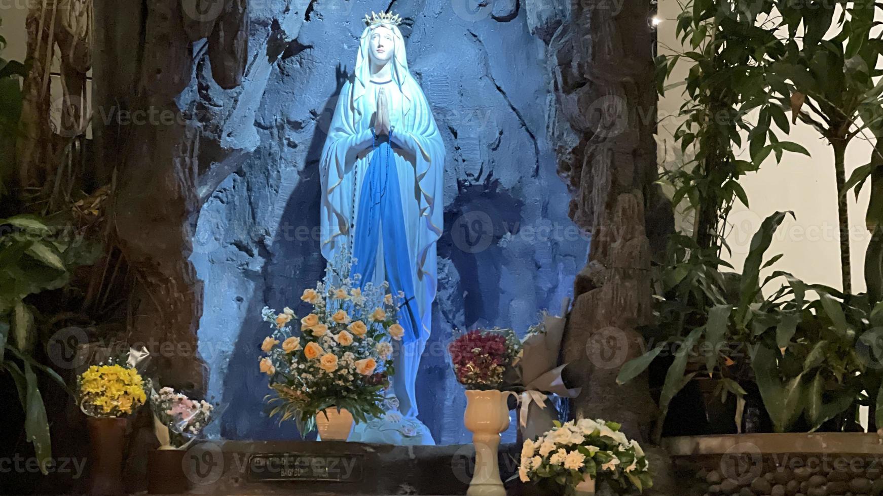
[[[388,281],[406,302],[388,412],[357,425],[350,440],[434,444],[417,420],[415,382],[432,324],[445,150],[408,70],[400,22],[366,16],[355,73],[337,100],[320,162],[321,252],[328,263],[351,254],[360,285]]]

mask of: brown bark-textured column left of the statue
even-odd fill
[[[228,88],[241,82],[247,61],[242,41],[247,4],[234,4],[235,13],[224,15],[236,18],[238,31],[231,40],[213,36],[209,43],[215,46],[208,48],[223,61],[217,72],[223,82],[218,83]],[[215,25],[214,19],[188,15],[192,8],[181,0],[151,0],[143,6],[98,2],[102,43],[96,50],[95,106],[102,119],[94,127],[99,149],[102,144],[109,148],[98,167],[117,171],[116,241],[138,281],[129,301],[128,339],[152,346],[163,385],[200,390],[206,374],[197,353],[202,283],[189,261],[192,221],[205,198],[198,194],[200,172],[230,174],[238,164],[225,159],[241,155],[209,146],[214,152],[200,167],[200,143],[206,139],[200,122],[176,103],[192,85],[192,40],[210,33],[206,24]],[[133,39],[136,34],[140,40]],[[225,171],[209,165],[215,163]]]

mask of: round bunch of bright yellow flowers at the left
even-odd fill
[[[79,375],[77,386],[79,408],[91,417],[129,415],[147,401],[144,380],[132,367],[90,366]]]

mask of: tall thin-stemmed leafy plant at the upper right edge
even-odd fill
[[[876,7],[875,7],[876,5]],[[858,187],[874,173],[883,156],[879,149],[871,163],[858,167],[849,181],[846,178],[846,150],[858,138],[866,137],[866,130],[878,135],[883,129],[883,75],[879,58],[883,56],[883,40],[872,33],[876,8],[883,4],[874,0],[849,0],[832,4],[777,5],[781,12],[781,26],[789,33],[787,50],[767,69],[767,83],[779,95],[783,107],[790,107],[792,122],[798,119],[811,125],[826,139],[834,152],[840,227],[841,277],[843,292],[851,292],[851,262],[849,256],[849,211],[846,192]],[[840,13],[840,19],[834,17]],[[839,26],[834,36],[826,33]],[[798,44],[798,33],[803,33]],[[874,132],[874,131],[877,132]],[[879,174],[877,174],[879,176]],[[873,180],[872,180],[873,182]],[[883,218],[883,182],[877,178],[869,208],[868,224],[872,233]],[[857,188],[857,189],[858,189]]]

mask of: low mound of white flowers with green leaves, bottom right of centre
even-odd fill
[[[644,450],[619,432],[620,425],[604,420],[555,423],[537,440],[525,440],[518,478],[522,482],[551,482],[569,494],[606,482],[619,493],[653,485]]]

